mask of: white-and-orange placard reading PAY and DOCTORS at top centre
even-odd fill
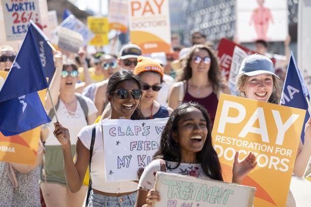
[[[170,52],[171,29],[168,0],[129,0],[131,42],[143,54]]]

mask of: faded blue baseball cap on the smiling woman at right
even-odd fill
[[[269,57],[262,54],[251,54],[247,56],[241,64],[239,75],[247,76],[269,73],[279,78],[274,72],[274,66]]]

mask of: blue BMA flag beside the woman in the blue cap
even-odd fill
[[[308,103],[306,99],[310,100],[308,88],[304,84],[299,69],[296,65],[295,57],[291,52],[291,59],[287,69],[286,78],[284,81],[280,105],[291,106],[306,110],[304,124],[301,132],[302,143],[304,143],[304,125],[310,117],[308,111]]]

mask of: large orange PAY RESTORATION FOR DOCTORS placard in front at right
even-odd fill
[[[213,146],[226,182],[231,182],[236,151],[249,152],[257,166],[243,181],[256,188],[254,206],[285,206],[305,110],[230,95],[220,95]]]

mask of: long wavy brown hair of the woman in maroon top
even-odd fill
[[[193,59],[194,53],[198,50],[206,50],[211,57],[211,67],[209,70],[208,81],[212,82],[214,93],[217,94],[224,86],[222,84],[222,78],[221,78],[221,73],[220,73],[220,69],[218,66],[217,57],[215,56],[212,48],[206,45],[194,45],[191,48],[189,54],[186,56],[186,63],[184,67],[182,68],[181,74],[179,75],[179,78],[177,79],[177,81],[188,80],[192,77],[192,68],[190,64]]]

